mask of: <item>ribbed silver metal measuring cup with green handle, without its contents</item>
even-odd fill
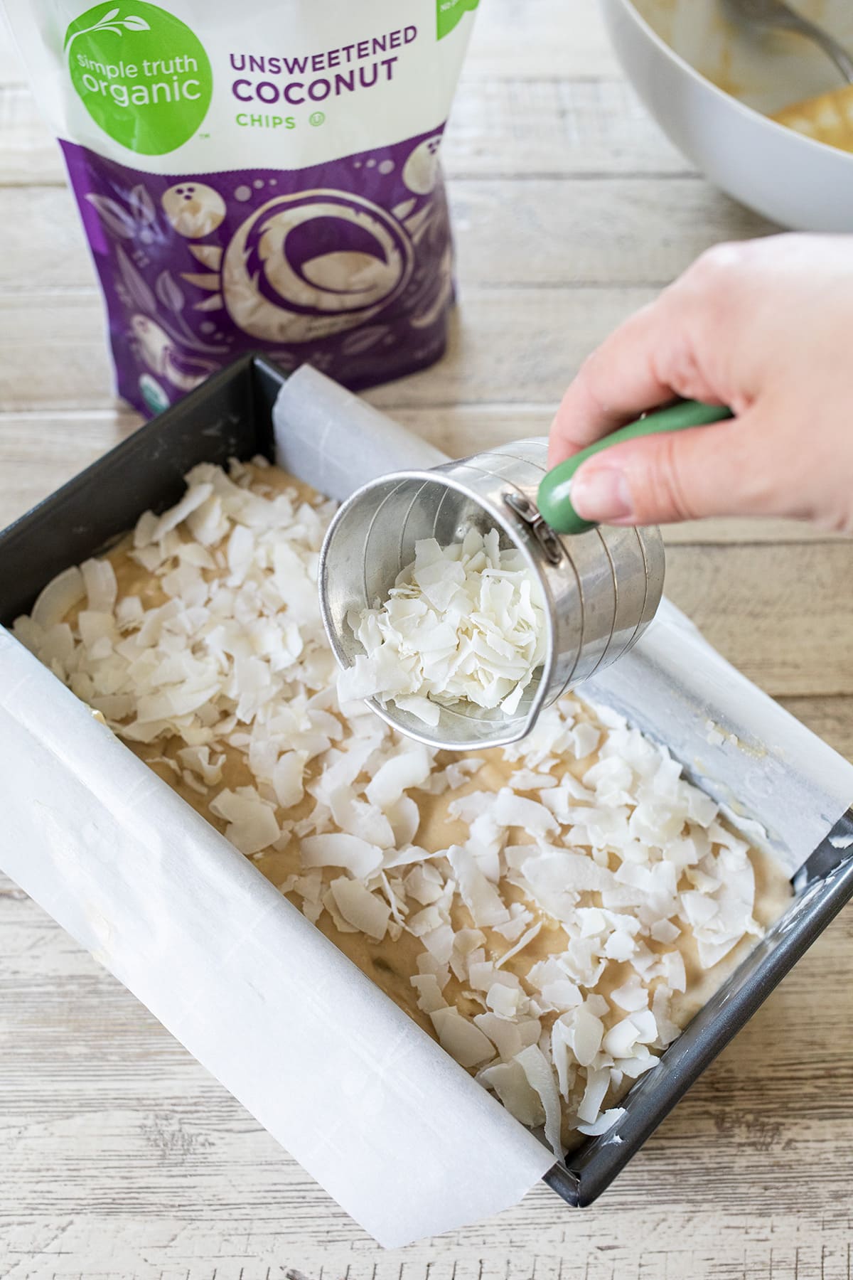
[[[503,746],[531,731],[561,692],[616,662],[655,616],[664,590],[664,544],[656,527],[592,526],[575,513],[572,476],[592,453],[620,440],[700,426],[729,416],[684,401],[648,413],[547,471],[547,440],[517,440],[430,470],[394,471],[343,503],[320,556],[320,602],[338,662],[362,652],[347,614],[376,607],[414,544],[460,541],[474,527],[496,527],[503,548],[518,548],[545,602],[546,657],[518,710],[485,710],[459,701],[441,707],[435,727],[393,701],[368,705],[394,728],[430,746]]]

